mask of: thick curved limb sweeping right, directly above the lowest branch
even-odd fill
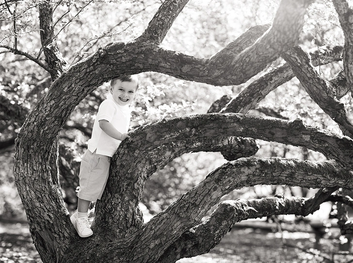
[[[353,173],[347,170],[337,170],[337,167],[329,162],[311,163],[295,159],[255,157],[229,162],[211,172],[204,181],[139,230],[136,250],[149,249],[150,255],[164,252],[178,238],[175,233],[183,233],[196,226],[221,197],[234,189],[256,184],[352,189],[352,175]],[[289,206],[285,209],[289,209]],[[265,210],[261,210],[263,211]],[[151,244],[148,240],[160,242]],[[148,245],[145,245],[146,243]]]

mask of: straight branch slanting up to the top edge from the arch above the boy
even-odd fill
[[[165,0],[138,39],[162,43],[174,20],[188,2],[189,0]]]

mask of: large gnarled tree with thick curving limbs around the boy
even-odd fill
[[[339,60],[343,69],[323,80],[307,52],[298,47],[305,12],[314,0],[282,0],[272,25],[254,26],[208,59],[162,48],[164,37],[188,0],[165,0],[144,33],[129,41],[100,47],[89,57],[66,68],[53,34],[53,6],[38,3],[41,43],[46,63],[23,53],[50,73],[47,94],[27,115],[3,99],[4,109],[17,113],[22,123],[16,138],[15,177],[30,224],[34,244],[43,262],[175,262],[209,251],[235,222],[272,214],[307,215],[338,188],[352,189],[353,127],[339,101],[352,92],[352,8],[333,0],[345,36],[344,47],[322,47],[325,57]],[[6,8],[9,3],[5,2]],[[11,10],[10,10],[11,11]],[[15,11],[10,12],[14,17]],[[15,19],[16,20],[16,19]],[[16,48],[1,46],[21,54]],[[315,65],[327,63],[312,52]],[[215,102],[208,114],[162,119],[137,129],[118,148],[112,160],[104,195],[96,203],[94,236],[80,239],[65,208],[59,183],[60,131],[75,107],[97,86],[121,74],[154,71],[178,79],[211,85],[247,82],[282,56],[287,64],[266,73],[237,97]],[[316,59],[315,59],[316,57]],[[302,120],[248,115],[267,93],[296,76],[321,109],[337,122],[344,136]],[[229,100],[230,99],[230,100]],[[225,102],[228,102],[225,105]],[[247,138],[242,138],[247,137]],[[327,161],[251,157],[254,139],[302,146],[321,152]],[[145,181],[170,160],[187,152],[221,151],[228,163],[211,172],[163,212],[143,224],[138,203]],[[243,158],[240,158],[243,157]],[[136,165],[138,164],[138,165]],[[269,197],[225,201],[201,222],[210,207],[233,189],[256,184],[286,184],[321,188],[314,197]],[[352,231],[346,214],[341,229]]]

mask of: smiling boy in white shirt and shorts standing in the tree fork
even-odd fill
[[[80,190],[77,211],[70,219],[80,237],[93,234],[87,212],[91,202],[100,199],[108,180],[110,159],[121,141],[129,138],[129,104],[138,88],[136,76],[112,79],[110,94],[99,106],[88,149],[80,165]]]

